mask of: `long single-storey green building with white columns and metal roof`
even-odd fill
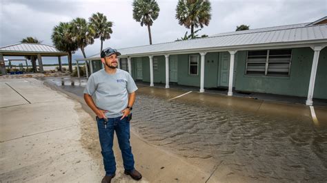
[[[312,23],[226,32],[201,39],[119,49],[135,80],[327,99],[327,17]],[[99,54],[91,73],[101,69]]]

